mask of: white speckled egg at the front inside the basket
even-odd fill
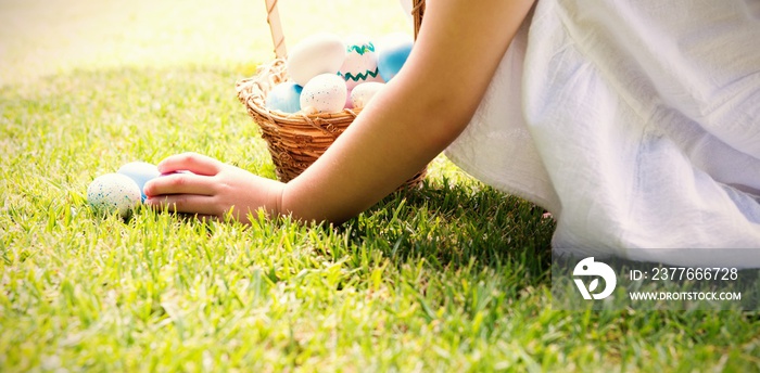
[[[345,80],[337,74],[321,74],[309,80],[301,92],[301,107],[307,114],[338,113],[349,95]]]

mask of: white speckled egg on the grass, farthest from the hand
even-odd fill
[[[140,188],[126,175],[105,173],[87,186],[87,203],[100,214],[126,218],[140,204]]]

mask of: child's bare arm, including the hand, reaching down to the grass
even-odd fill
[[[148,203],[237,218],[264,207],[343,221],[391,193],[442,152],[474,114],[533,0],[429,1],[406,65],[317,162],[288,184],[197,154],[168,157]]]

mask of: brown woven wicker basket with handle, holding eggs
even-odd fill
[[[284,59],[287,55],[277,0],[265,0],[267,21],[277,59],[258,68],[255,76],[238,81],[240,102],[245,105],[253,120],[262,129],[275,164],[277,178],[290,181],[311,166],[333,141],[351,125],[360,110],[344,110],[333,114],[305,115],[269,111],[265,106],[266,95],[277,83],[288,79]],[[415,37],[419,30],[425,10],[425,0],[414,0]],[[402,188],[418,185],[427,167],[409,179]]]

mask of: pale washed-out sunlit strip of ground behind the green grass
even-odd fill
[[[408,31],[394,0],[280,1],[292,46],[316,31]],[[274,57],[263,0],[0,1],[0,86],[73,68],[262,63]]]

